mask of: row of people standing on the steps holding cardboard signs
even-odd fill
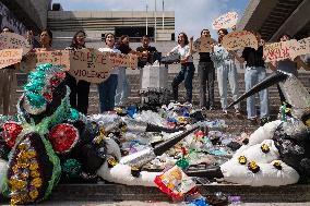
[[[8,27],[2,28],[2,33],[13,32]],[[227,86],[229,84],[233,94],[233,100],[237,100],[239,96],[238,86],[238,73],[236,66],[236,60],[241,64],[246,62],[245,69],[245,83],[246,90],[252,88],[255,84],[261,82],[266,77],[266,68],[272,70],[282,70],[294,75],[298,75],[297,70],[302,66],[307,69],[308,65],[297,57],[294,61],[286,59],[283,61],[272,62],[269,65],[263,59],[263,46],[265,41],[261,38],[258,32],[253,32],[258,40],[258,49],[246,47],[241,56],[231,50],[227,50],[223,45],[223,38],[228,34],[226,28],[220,28],[217,31],[218,40],[211,44],[211,52],[199,52],[199,63],[198,63],[198,76],[199,76],[199,107],[202,110],[210,109],[214,110],[216,107],[220,107],[224,114],[228,113],[227,107]],[[204,28],[201,31],[201,37],[211,38],[210,31]],[[72,43],[67,50],[78,50],[86,48],[85,46],[86,34],[84,31],[79,31],[74,34]],[[192,104],[192,90],[193,90],[193,77],[195,72],[195,66],[193,63],[193,45],[200,43],[200,38],[193,41],[193,38],[189,38],[186,33],[180,33],[178,35],[178,45],[172,48],[167,56],[178,54],[180,57],[180,71],[175,76],[171,83],[172,99],[178,101],[178,86],[184,81],[186,87],[186,104]],[[279,40],[289,40],[291,37],[287,34],[281,36]],[[27,33],[27,40],[33,45],[31,52],[43,52],[51,51],[52,48],[52,33],[49,29],[44,29],[39,34],[39,46],[34,44],[34,36],[32,32]],[[105,35],[105,47],[99,48],[102,52],[117,52],[117,53],[132,53],[139,56],[139,68],[143,68],[148,63],[153,63],[154,59],[157,59],[158,51],[155,47],[150,46],[151,38],[148,36],[143,36],[141,38],[141,47],[133,50],[130,47],[130,37],[128,35],[122,35],[117,41],[116,36],[112,33],[107,33]],[[3,107],[3,114],[10,114],[11,105],[11,90],[15,89],[13,84],[14,69],[19,64],[8,66],[0,70],[0,100]],[[218,92],[220,106],[215,105],[214,100],[214,82],[215,72],[218,83]],[[70,104],[78,111],[87,114],[88,109],[88,95],[91,83],[86,81],[78,81],[74,76],[67,72],[65,83],[70,87]],[[7,85],[7,86],[4,86]],[[111,111],[116,106],[122,106],[129,96],[130,85],[126,76],[126,68],[114,68],[110,76],[103,83],[98,84],[98,94],[100,102],[100,112]],[[207,95],[206,95],[207,94]],[[207,98],[206,98],[207,96]],[[285,102],[285,98],[279,89],[279,96],[282,102]],[[260,99],[260,117],[257,114],[255,109],[255,98],[251,96],[247,99],[247,118],[253,122],[258,123],[260,120],[261,124],[269,121],[270,117],[270,102],[269,102],[269,92],[266,89],[259,93]],[[240,116],[240,105],[235,105],[236,116]]]

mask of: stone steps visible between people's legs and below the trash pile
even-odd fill
[[[169,69],[170,70],[170,69]],[[172,77],[176,74],[177,69],[172,69],[172,72],[169,73],[168,82],[172,81]],[[139,71],[129,71],[128,72],[129,82],[131,85],[131,96],[128,104],[139,105]],[[15,99],[22,94],[22,85],[25,83],[25,75],[19,74],[19,86],[16,94],[14,95]],[[303,85],[310,90],[310,73],[300,72],[299,80]],[[245,82],[243,73],[239,71],[239,88],[240,94],[245,92]],[[193,104],[198,105],[199,102],[199,84],[198,76],[195,74],[193,81]],[[229,89],[228,89],[229,90]],[[270,104],[272,118],[275,119],[279,98],[277,89],[275,86],[270,88]],[[186,89],[183,84],[180,85],[179,96],[180,99],[184,97]],[[257,97],[258,99],[258,97]],[[98,113],[98,93],[96,85],[91,86],[90,94],[90,113]],[[228,117],[224,117],[223,112],[219,109],[219,98],[218,98],[218,88],[217,82],[215,82],[215,104],[217,106],[216,110],[205,111],[205,117],[210,120],[224,119],[228,128],[225,129],[214,129],[220,130],[222,132],[228,133],[239,133],[247,132],[250,133],[255,130],[259,125],[252,125],[246,118],[239,117],[236,118],[234,113],[229,113]],[[15,105],[15,102],[14,102]],[[241,102],[241,111],[246,113],[246,102]],[[310,185],[309,184],[295,184],[279,187],[272,186],[261,186],[261,187],[251,187],[243,185],[233,185],[233,184],[208,184],[208,185],[199,185],[199,190],[202,194],[214,194],[215,192],[223,192],[226,195],[239,195],[241,196],[242,202],[275,202],[275,203],[291,203],[291,202],[310,202]],[[84,184],[60,184],[52,192],[52,195],[46,204],[57,203],[60,201],[98,201],[98,202],[118,202],[118,201],[171,201],[169,196],[162,193],[156,187],[143,187],[143,186],[126,186],[119,184],[109,184],[109,183],[84,183]]]

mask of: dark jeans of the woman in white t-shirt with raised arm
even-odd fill
[[[187,89],[186,100],[188,102],[192,101],[193,75],[194,75],[194,64],[192,62],[181,64],[181,71],[176,75],[171,84],[174,100],[176,101],[178,100],[179,84],[181,84],[181,82],[184,80],[184,86]]]

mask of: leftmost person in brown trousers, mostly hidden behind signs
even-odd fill
[[[3,27],[2,33],[14,33],[9,27]],[[0,69],[0,106],[3,108],[3,114],[11,114],[10,105],[11,97],[15,90],[16,84],[15,69],[19,68],[19,63]]]

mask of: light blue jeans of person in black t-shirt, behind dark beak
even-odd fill
[[[262,66],[247,66],[245,72],[245,82],[246,82],[246,90],[248,92],[254,85],[262,82],[266,77],[266,69]],[[263,89],[259,93],[260,97],[260,117],[267,118],[270,116],[269,108],[269,92],[267,89]],[[247,112],[248,119],[252,119],[257,117],[255,110],[255,96],[252,95],[247,98]]]

